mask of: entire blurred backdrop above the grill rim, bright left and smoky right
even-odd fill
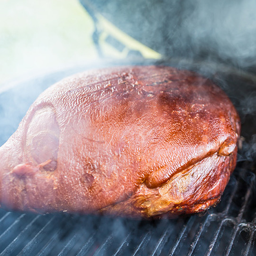
[[[0,0],[0,84],[99,57],[256,73],[255,9],[254,0]]]

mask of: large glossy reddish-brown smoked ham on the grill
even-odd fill
[[[0,147],[0,204],[144,218],[201,212],[229,181],[239,132],[225,93],[190,71],[79,73],[43,92]]]

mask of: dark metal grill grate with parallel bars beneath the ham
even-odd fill
[[[255,175],[237,168],[204,216],[154,221],[0,210],[0,256],[256,255]]]

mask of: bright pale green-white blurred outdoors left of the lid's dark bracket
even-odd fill
[[[0,0],[0,84],[98,57],[78,0]]]

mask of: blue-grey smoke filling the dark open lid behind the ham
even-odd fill
[[[164,57],[256,65],[254,0],[95,0],[93,7]]]

